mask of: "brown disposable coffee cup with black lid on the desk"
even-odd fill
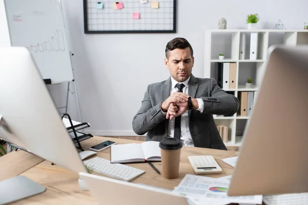
[[[159,147],[162,155],[162,175],[167,179],[174,179],[179,176],[180,156],[182,142],[179,139],[170,137],[163,139]]]

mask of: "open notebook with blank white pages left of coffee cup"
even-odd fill
[[[161,161],[159,141],[111,146],[111,163]]]

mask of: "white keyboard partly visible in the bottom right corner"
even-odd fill
[[[306,205],[308,193],[263,196],[263,201],[266,205]]]

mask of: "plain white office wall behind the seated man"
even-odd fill
[[[293,2],[178,0],[177,33],[84,34],[82,1],[63,1],[82,116],[91,123],[88,131],[97,135],[136,135],[131,121],[141,106],[146,86],[169,77],[164,49],[172,38],[181,36],[190,42],[195,53],[192,73],[202,77],[205,29],[216,29],[221,17],[227,19],[229,29],[246,28],[249,13],[260,15],[258,28],[272,29],[281,19],[287,29],[302,29],[308,22],[308,1]],[[1,14],[0,23],[2,18]],[[75,102],[70,105],[69,113],[78,116]]]

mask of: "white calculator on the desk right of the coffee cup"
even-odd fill
[[[222,172],[221,167],[211,155],[188,156],[188,159],[196,174],[218,174]]]

